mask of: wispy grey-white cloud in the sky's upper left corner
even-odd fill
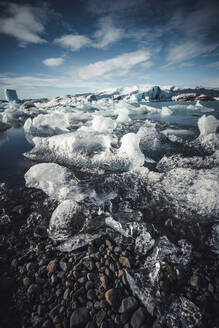
[[[39,8],[10,3],[6,16],[0,18],[0,33],[15,37],[22,45],[46,42],[40,36],[44,32],[44,15]]]

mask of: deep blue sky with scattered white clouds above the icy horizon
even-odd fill
[[[1,1],[0,90],[219,88],[218,16],[218,0]]]

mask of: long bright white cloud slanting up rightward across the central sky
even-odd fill
[[[135,65],[145,63],[150,58],[147,50],[138,50],[89,64],[78,70],[80,78],[90,80],[98,77],[112,78],[126,75]]]

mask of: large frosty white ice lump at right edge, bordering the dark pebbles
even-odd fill
[[[164,173],[157,190],[176,218],[214,220],[219,215],[219,168],[177,168]]]

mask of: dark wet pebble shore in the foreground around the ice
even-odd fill
[[[43,192],[24,186],[10,189],[1,184],[0,194],[5,214],[11,218],[8,224],[1,224],[4,228],[0,242],[2,327],[140,328],[146,322],[149,327],[155,324],[156,316],[151,316],[133,295],[124,274],[126,270],[136,271],[144,259],[143,255],[134,254],[127,238],[123,237],[122,244],[117,245],[108,235],[75,252],[61,253],[55,250],[56,243],[46,232],[56,202]],[[42,214],[37,222],[32,216],[32,222],[26,224],[34,212]],[[154,222],[155,227],[158,222]],[[186,269],[166,260],[161,262],[155,287],[162,311],[176,296],[199,306],[202,319],[197,327],[200,328],[218,325],[219,256],[209,249],[206,227],[206,224],[175,221],[174,227],[166,228],[166,231],[173,230],[172,235],[174,231],[184,230],[186,234],[190,230],[188,238],[194,235],[196,242]],[[139,318],[142,322],[138,325]],[[75,320],[81,326],[71,324]]]

